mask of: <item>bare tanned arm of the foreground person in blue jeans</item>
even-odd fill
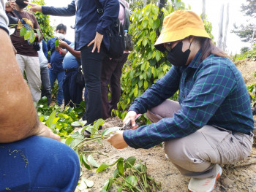
[[[42,125],[23,80],[7,32],[0,28],[0,143],[15,142],[32,135],[59,140]]]

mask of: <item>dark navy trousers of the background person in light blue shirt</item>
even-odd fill
[[[83,85],[76,82],[78,71],[66,72],[63,79],[64,104],[70,107],[80,104],[83,100]]]

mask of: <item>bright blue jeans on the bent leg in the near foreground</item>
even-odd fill
[[[75,191],[80,176],[78,155],[46,137],[0,144],[0,191]]]

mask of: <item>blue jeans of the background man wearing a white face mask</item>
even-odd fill
[[[50,87],[53,88],[54,82],[58,80],[58,94],[57,94],[57,104],[61,105],[63,101],[63,78],[64,78],[65,72],[54,72],[53,70],[49,69],[49,77],[50,77]]]

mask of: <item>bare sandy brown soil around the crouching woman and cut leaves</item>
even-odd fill
[[[246,85],[255,82],[253,73],[256,70],[256,62],[246,60],[237,62],[236,66],[243,74]],[[102,128],[104,129],[113,126],[122,126],[122,120],[119,118],[109,118],[106,120],[105,125],[102,126]],[[151,177],[154,177],[157,182],[161,182],[162,192],[188,191],[187,185],[190,178],[184,177],[180,172],[178,172],[178,169],[176,169],[170,160],[165,157],[164,150],[160,146],[152,147],[148,150],[135,150],[132,147],[127,147],[124,150],[116,150],[109,145],[108,142],[103,141],[102,145],[97,143],[86,145],[84,150],[97,150],[100,153],[107,155],[105,156],[94,153],[94,159],[99,164],[104,162],[112,164],[120,157],[126,159],[129,156],[135,156],[137,158],[136,162],[138,162],[138,160],[146,162],[148,174],[150,174]],[[256,191],[256,145],[252,148],[252,154],[244,161],[240,161],[238,164],[222,166],[222,168],[223,174],[219,180],[217,180],[217,185],[214,189],[215,192]],[[97,174],[95,173],[96,168],[92,171],[89,171],[84,167],[82,167],[82,169],[83,175],[81,178],[94,181],[94,186],[86,189],[83,188],[83,185],[78,185],[75,192],[98,192],[101,190],[105,181],[108,180],[113,173],[113,169],[111,168]]]

